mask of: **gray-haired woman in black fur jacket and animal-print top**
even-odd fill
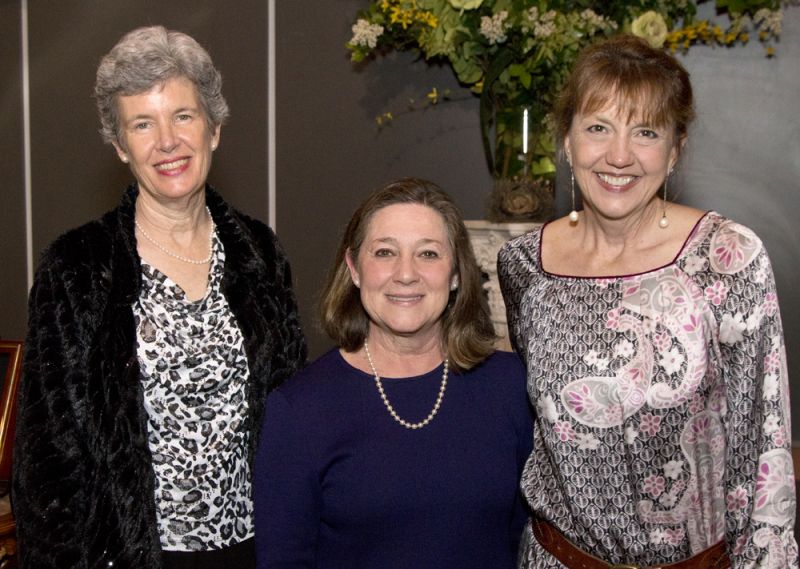
[[[162,27],[100,63],[101,132],[135,183],[47,248],[31,290],[13,482],[25,569],[254,566],[264,401],[306,348],[275,235],[206,183],[221,83]]]

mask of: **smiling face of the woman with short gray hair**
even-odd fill
[[[209,128],[194,84],[173,77],[117,106],[123,145],[114,147],[142,195],[163,203],[202,191],[220,129]]]

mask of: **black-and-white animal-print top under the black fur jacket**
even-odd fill
[[[142,261],[134,304],[161,545],[227,547],[253,535],[242,333],[222,294],[216,234],[204,298]]]

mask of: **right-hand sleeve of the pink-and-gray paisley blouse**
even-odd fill
[[[725,530],[735,569],[796,568],[789,377],[775,281],[761,241],[723,224],[709,251],[725,389]]]

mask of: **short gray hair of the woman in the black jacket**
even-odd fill
[[[118,96],[144,93],[173,77],[194,83],[209,128],[225,122],[229,111],[222,96],[222,76],[208,52],[184,33],[163,26],[137,28],[125,34],[97,68],[94,98],[103,140],[122,146]]]

